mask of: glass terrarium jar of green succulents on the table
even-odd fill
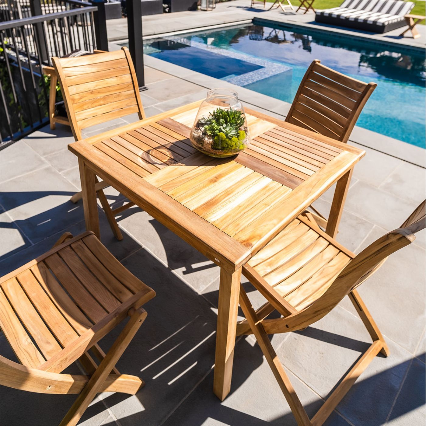
[[[211,157],[229,157],[250,143],[247,119],[237,93],[211,89],[198,110],[191,130],[193,146]]]

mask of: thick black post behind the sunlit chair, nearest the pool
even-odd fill
[[[127,0],[127,30],[129,34],[129,51],[135,65],[139,90],[146,90],[144,77],[144,48],[142,43],[142,8],[141,0]]]

